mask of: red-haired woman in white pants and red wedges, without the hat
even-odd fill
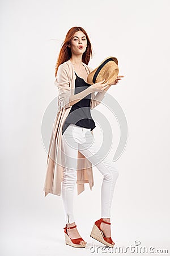
[[[114,245],[111,238],[110,221],[112,197],[118,171],[111,159],[103,159],[104,156],[98,152],[99,148],[92,134],[92,130],[95,128],[95,122],[90,113],[90,109],[100,104],[105,92],[111,87],[111,84],[108,84],[104,80],[93,85],[87,83],[88,73],[92,71],[88,67],[91,56],[91,43],[86,31],[82,27],[72,27],[67,32],[65,41],[59,52],[56,64],[56,84],[59,91],[59,113],[61,109],[65,110],[65,113],[68,110],[66,114],[62,113],[62,119],[64,121],[61,127],[61,163],[63,165],[61,191],[66,221],[64,228],[65,242],[67,245],[73,247],[85,247],[87,243],[80,236],[76,228],[73,212],[74,187],[80,174],[77,171],[79,153],[84,158],[89,159],[89,163],[95,164],[103,175],[101,187],[101,218],[95,222],[91,237],[103,242],[104,245]],[[74,92],[70,92],[69,82],[71,79],[74,84],[72,88]],[[117,84],[118,80],[121,79],[117,78],[113,84]],[[96,96],[95,92],[97,92]],[[48,177],[46,176],[44,188],[46,195],[48,192],[54,193],[52,192],[52,188],[47,189],[47,180]],[[52,181],[50,181],[51,183]],[[59,192],[56,195],[60,195]]]

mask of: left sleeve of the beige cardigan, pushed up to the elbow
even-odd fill
[[[64,65],[59,65],[54,84],[58,88],[58,109],[70,108],[70,81],[69,72]]]

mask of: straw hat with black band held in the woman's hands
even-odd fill
[[[108,84],[112,84],[116,80],[119,72],[117,64],[118,60],[116,57],[109,56],[104,59],[97,68],[88,74],[88,84],[95,84],[104,79],[104,82],[108,81]]]

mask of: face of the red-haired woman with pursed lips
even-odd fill
[[[71,52],[75,55],[83,54],[86,51],[87,39],[82,31],[77,31],[71,39]]]

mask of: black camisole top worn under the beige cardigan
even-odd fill
[[[76,73],[75,73],[76,75]],[[75,79],[75,88],[74,93],[80,93],[83,90],[87,89],[90,84],[84,81],[81,77],[76,75]],[[81,126],[84,128],[90,128],[91,131],[96,127],[94,120],[92,119],[90,113],[90,102],[91,102],[91,93],[82,100],[76,102],[70,109],[69,114],[67,115],[65,122],[62,126],[62,134],[65,132],[70,123],[74,125]]]

